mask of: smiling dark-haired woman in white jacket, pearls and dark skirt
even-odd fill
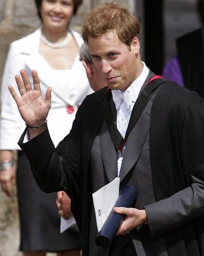
[[[20,118],[8,85],[15,85],[20,69],[37,69],[42,93],[52,87],[52,107],[48,127],[55,146],[72,127],[79,104],[89,93],[86,71],[79,61],[82,38],[68,29],[72,15],[82,0],[36,0],[42,24],[29,36],[10,44],[1,87],[0,180],[2,190],[12,195],[15,178],[13,150],[17,150],[17,194],[20,216],[20,251],[24,256],[80,255],[77,227],[59,234],[60,216],[56,194],[44,194],[37,187],[30,164],[17,145],[25,124]],[[58,127],[58,128],[57,128]]]

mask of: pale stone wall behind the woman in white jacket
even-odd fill
[[[86,13],[101,0],[84,0],[71,26],[80,32]],[[128,0],[115,1],[128,3]],[[26,3],[26,4],[25,4]],[[0,83],[10,42],[34,31],[40,24],[34,0],[0,0]],[[12,199],[0,191],[0,256],[19,256],[19,222],[16,196]]]

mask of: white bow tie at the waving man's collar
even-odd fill
[[[125,92],[121,90],[111,90],[112,92],[112,100],[115,103],[115,108],[118,110],[122,101],[124,101],[126,108],[131,107],[132,97],[131,97],[131,89],[126,89]]]

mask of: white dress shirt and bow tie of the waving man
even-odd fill
[[[142,88],[143,83],[145,82],[149,73],[149,69],[145,65],[145,62],[142,61],[142,64],[142,73],[124,92],[121,90],[111,91],[112,99],[115,103],[115,108],[117,111],[117,128],[123,138],[125,138],[126,129],[128,128],[129,120],[131,118],[132,108],[135,101],[138,99],[140,89]],[[121,170],[124,150],[125,146],[122,149],[122,152],[118,150],[118,176],[119,171]]]

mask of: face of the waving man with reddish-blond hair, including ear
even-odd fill
[[[113,30],[88,43],[96,70],[112,90],[125,90],[142,72],[137,37],[127,46]]]

